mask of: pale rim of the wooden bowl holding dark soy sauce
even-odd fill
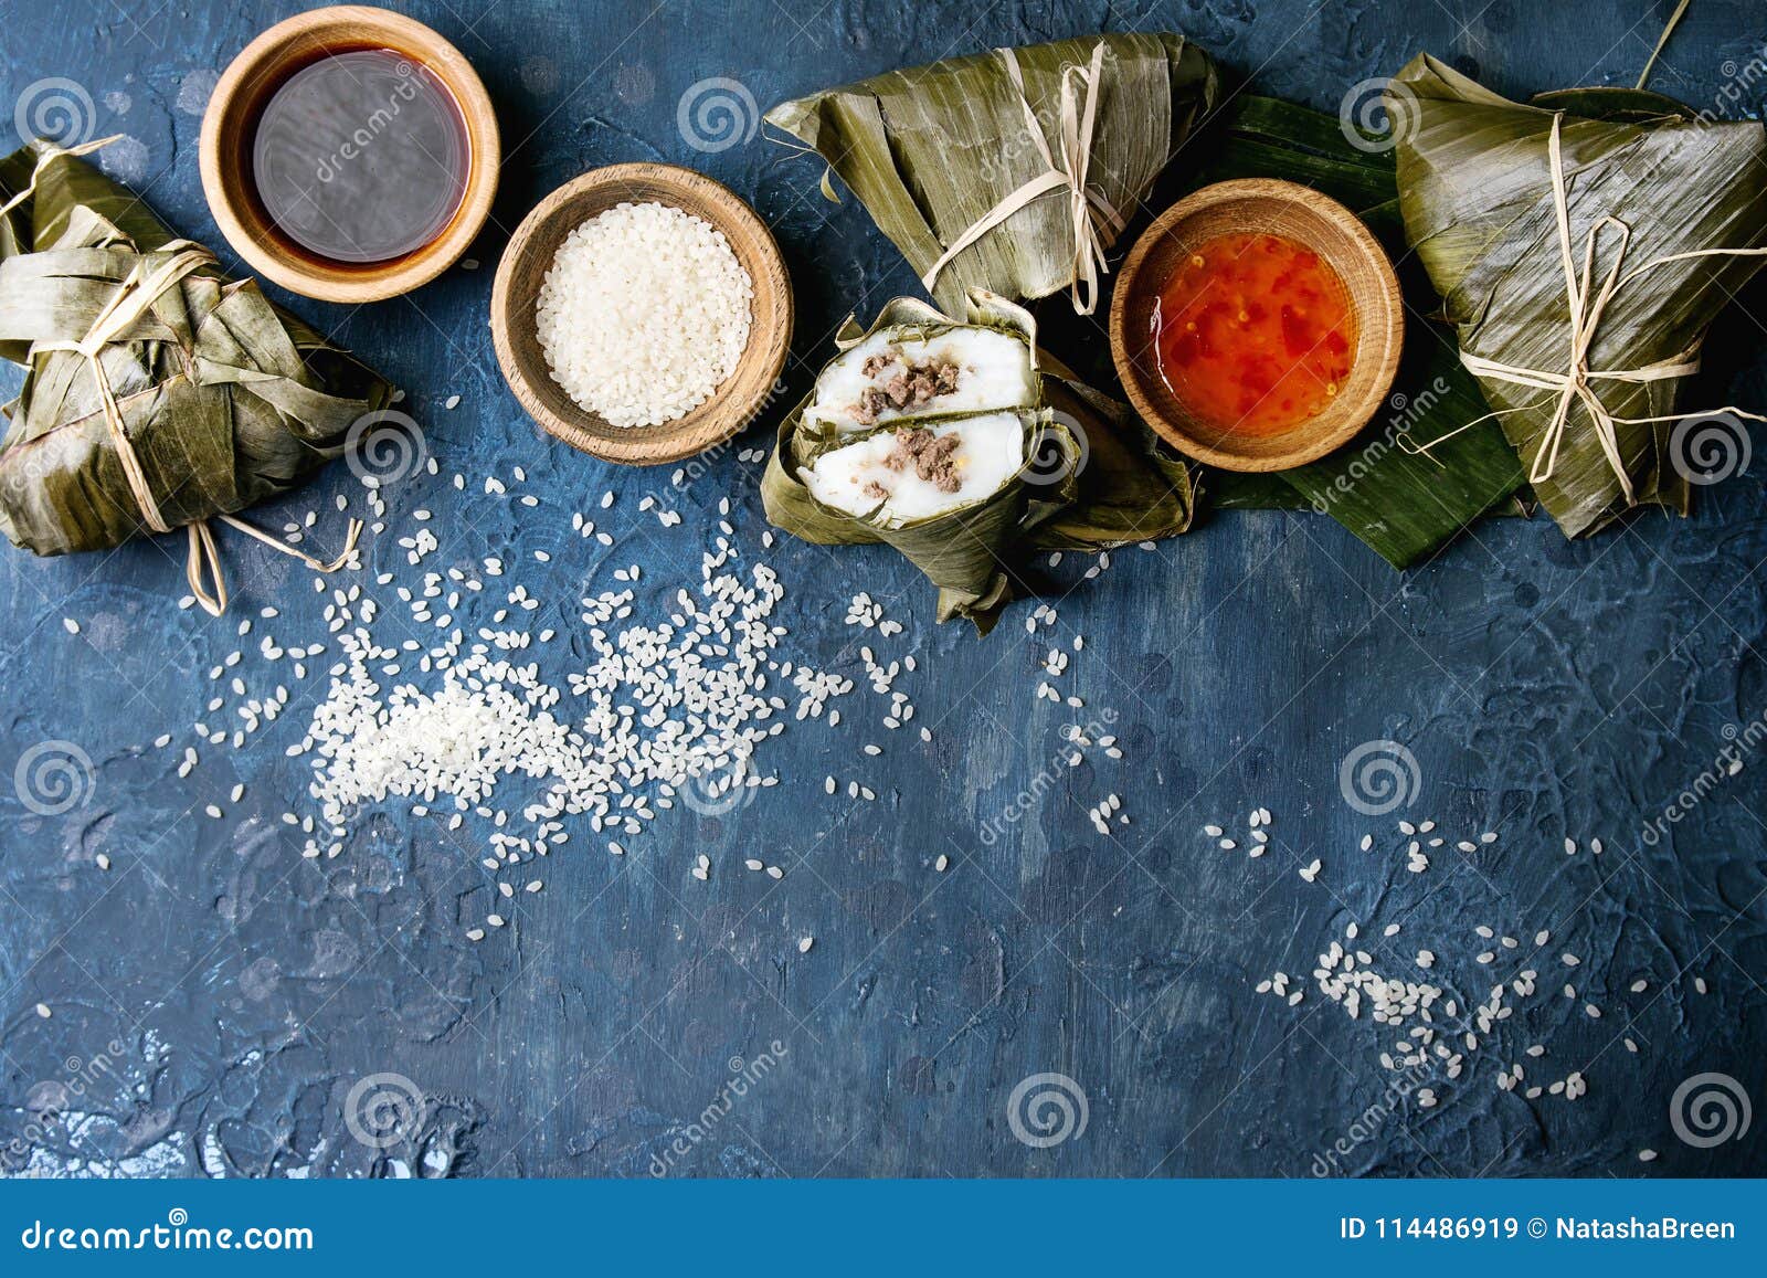
[[[228,194],[223,180],[221,148],[233,131],[244,127],[237,118],[242,88],[260,74],[272,72],[292,51],[307,39],[339,37],[387,41],[389,48],[408,51],[433,71],[454,95],[466,126],[472,163],[466,171],[466,189],[459,209],[429,244],[383,265],[325,267],[320,262],[292,253],[249,205],[242,207]],[[221,235],[246,263],[283,288],[322,302],[380,302],[428,285],[472,246],[484,228],[497,196],[498,166],[502,164],[502,138],[497,113],[484,81],[466,57],[436,30],[415,18],[371,5],[327,5],[284,18],[258,34],[235,55],[221,80],[216,81],[203,111],[198,166],[203,194]]]

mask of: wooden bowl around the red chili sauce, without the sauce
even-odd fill
[[[1357,316],[1348,380],[1323,412],[1279,435],[1239,435],[1198,421],[1156,364],[1161,286],[1196,246],[1232,232],[1306,244],[1343,279]],[[1111,357],[1136,412],[1180,453],[1223,470],[1290,470],[1348,444],[1385,403],[1403,341],[1399,281],[1368,228],[1336,200],[1272,179],[1217,182],[1166,209],[1129,251],[1110,308]]]

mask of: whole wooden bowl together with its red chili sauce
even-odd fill
[[[1399,366],[1392,265],[1336,200],[1293,182],[1219,182],[1134,244],[1111,355],[1136,412],[1187,456],[1288,470],[1348,444]]]

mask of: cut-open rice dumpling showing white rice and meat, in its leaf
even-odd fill
[[[887,543],[938,587],[938,620],[981,633],[1032,550],[1184,532],[1191,481],[1134,415],[1057,366],[1030,315],[977,292],[967,322],[912,299],[841,354],[779,426],[772,523],[829,546]]]

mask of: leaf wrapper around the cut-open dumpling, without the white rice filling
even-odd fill
[[[1012,331],[1035,352],[1030,313],[977,292],[970,323]],[[937,327],[956,320],[926,302],[898,297],[869,329],[848,320],[836,346],[848,350],[878,329]],[[1108,550],[1170,537],[1191,525],[1193,495],[1186,463],[1164,449],[1129,412],[1097,391],[1069,380],[1067,369],[1039,355],[1044,403],[1020,412],[1025,465],[986,498],[903,527],[878,523],[818,502],[799,470],[834,447],[875,431],[836,435],[804,426],[815,387],[779,422],[776,447],[762,475],[762,506],[774,527],[823,546],[889,544],[938,587],[938,620],[968,617],[979,635],[993,629],[1016,594],[1018,567],[1037,550]],[[922,419],[940,421],[940,419]],[[942,421],[952,421],[945,417]],[[901,421],[876,431],[901,428]]]

